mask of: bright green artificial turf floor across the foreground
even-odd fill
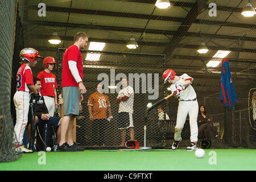
[[[256,170],[256,150],[208,149],[202,159],[195,151],[93,151],[39,152],[23,154],[15,162],[0,163],[5,170],[92,170],[92,171],[170,171],[170,170]],[[44,160],[45,159],[45,160]],[[43,163],[46,164],[43,164]]]

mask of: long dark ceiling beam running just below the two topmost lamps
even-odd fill
[[[193,4],[193,5],[195,5],[195,4]],[[30,7],[28,7],[28,9],[38,10],[38,6],[30,6]],[[119,12],[113,12],[113,11],[74,9],[74,8],[69,8],[69,7],[57,7],[57,6],[47,6],[47,11],[60,12],[60,13],[116,16],[116,17],[123,17],[123,18],[164,20],[164,21],[171,21],[171,22],[183,22],[185,20],[185,18],[179,18],[179,17],[173,17],[173,16],[119,13]],[[215,25],[215,26],[238,27],[238,28],[256,28],[255,24],[220,22],[220,21],[203,20],[203,19],[196,19],[193,23]]]

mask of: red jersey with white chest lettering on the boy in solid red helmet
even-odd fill
[[[41,80],[41,94],[42,96],[55,97],[54,89],[58,88],[56,76],[53,73],[42,71],[38,73],[38,78]]]

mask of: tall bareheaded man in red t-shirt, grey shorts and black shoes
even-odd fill
[[[58,151],[77,151],[80,148],[73,142],[73,120],[79,115],[79,103],[83,100],[82,94],[86,88],[82,83],[82,55],[80,49],[84,49],[88,43],[88,35],[78,32],[74,38],[74,44],[64,52],[61,87],[63,88],[63,112],[61,124],[60,145]],[[68,133],[68,140],[65,136]]]

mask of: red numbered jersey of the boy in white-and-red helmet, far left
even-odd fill
[[[27,85],[34,84],[31,68],[27,64],[22,64],[18,69],[16,77],[16,90],[30,92],[30,89],[28,89]]]

